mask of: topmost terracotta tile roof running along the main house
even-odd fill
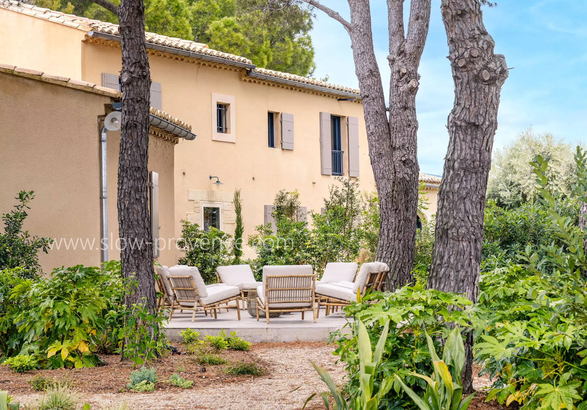
[[[18,2],[14,0],[9,0],[8,2],[0,2],[0,8],[6,8],[12,11],[25,13],[42,19],[49,19],[52,22],[67,25],[73,28],[84,30],[86,32],[93,30],[96,32],[119,36],[118,25],[113,23],[102,22],[100,20],[92,20],[71,14],[65,14],[62,12],[36,7],[29,4],[18,4]],[[197,43],[191,40],[179,39],[177,37],[168,37],[157,33],[149,32],[145,33],[145,40],[148,43],[154,43],[160,46],[167,46],[175,49],[206,54],[208,56],[220,57],[222,59],[232,60],[235,62],[252,64],[251,60],[247,59],[246,57],[237,56],[235,54],[230,53],[224,53],[219,50],[212,50],[208,48],[207,44]],[[295,74],[282,73],[281,71],[267,70],[259,67],[257,67],[255,71],[257,73],[266,74],[268,76],[298,81],[299,83],[312,84],[314,86],[331,88],[332,90],[346,91],[348,93],[359,94],[359,90],[356,90],[354,88],[338,86],[336,84],[330,83],[323,83],[322,81],[314,80],[313,78],[296,76]]]

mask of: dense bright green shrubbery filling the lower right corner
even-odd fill
[[[579,201],[587,201],[587,156],[578,148],[576,184]],[[497,297],[501,313],[481,317],[482,343],[475,344],[476,360],[484,371],[497,375],[487,400],[521,409],[584,409],[587,382],[587,259],[584,233],[572,215],[559,205],[558,194],[549,192],[548,159],[536,158],[538,192],[548,214],[548,230],[557,241],[525,246],[523,274],[507,284],[496,284],[488,298]],[[508,278],[504,279],[508,281]],[[501,286],[500,286],[501,285]],[[501,294],[500,294],[501,291]],[[492,300],[490,299],[490,300]],[[484,302],[487,305],[487,302]],[[491,307],[491,305],[490,305]],[[492,313],[492,312],[490,312]]]

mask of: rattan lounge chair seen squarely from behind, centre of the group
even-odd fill
[[[257,288],[257,320],[259,310],[265,312],[269,323],[269,312],[312,311],[316,322],[315,300],[316,275],[312,265],[283,265],[263,267],[263,284]]]

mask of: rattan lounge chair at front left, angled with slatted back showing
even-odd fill
[[[169,320],[175,309],[193,310],[192,322],[194,322],[195,312],[201,310],[210,311],[210,315],[213,311],[214,319],[217,319],[217,310],[237,309],[238,320],[241,320],[241,310],[238,305],[241,292],[237,286],[206,286],[198,268],[187,266],[169,268],[167,279],[174,294]],[[235,305],[228,304],[232,300],[235,300]]]

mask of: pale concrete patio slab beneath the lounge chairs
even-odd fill
[[[169,340],[181,341],[179,332],[189,327],[200,332],[201,336],[218,334],[221,329],[224,329],[227,334],[236,331],[238,336],[252,343],[296,340],[325,341],[330,332],[340,329],[347,323],[347,320],[352,321],[352,317],[341,315],[340,310],[326,316],[324,308],[320,309],[316,323],[313,322],[310,312],[305,312],[304,320],[302,320],[301,313],[294,312],[289,315],[272,317],[269,319],[269,324],[266,323],[264,317],[259,318],[259,322],[257,322],[257,318],[251,317],[247,310],[241,310],[241,320],[238,320],[237,311],[234,309],[231,309],[230,312],[224,310],[220,315],[217,315],[218,319],[214,319],[213,316],[205,316],[204,312],[198,312],[195,314],[193,323],[191,315],[191,311],[184,310],[183,313],[180,313],[179,310],[176,310],[166,327]],[[342,332],[348,333],[349,330],[345,328]]]

